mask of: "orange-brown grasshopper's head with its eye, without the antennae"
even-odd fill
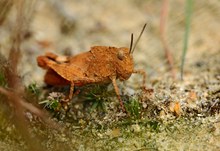
[[[127,80],[134,69],[134,62],[132,54],[129,53],[129,49],[125,47],[118,48],[116,61],[117,78],[121,81]]]

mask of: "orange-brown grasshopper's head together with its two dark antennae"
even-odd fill
[[[134,71],[134,62],[133,62],[133,52],[139,42],[144,29],[147,24],[144,25],[138,39],[134,43],[133,47],[133,34],[131,34],[131,43],[130,48],[121,47],[117,49],[117,63],[116,63],[116,70],[117,70],[117,78],[120,80],[127,80]]]

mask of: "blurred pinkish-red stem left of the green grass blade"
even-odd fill
[[[170,71],[172,74],[173,79],[176,78],[176,71],[174,68],[174,62],[173,62],[173,56],[170,52],[170,48],[167,44],[166,38],[165,38],[165,23],[168,16],[168,0],[163,0],[163,6],[161,11],[161,18],[160,18],[160,35],[161,35],[161,41],[164,46],[164,52],[165,56],[167,58],[167,62],[170,66]]]

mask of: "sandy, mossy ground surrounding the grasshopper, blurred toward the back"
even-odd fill
[[[185,1],[169,2],[166,22],[165,36],[174,57],[175,80],[160,39],[161,1],[33,0],[24,6],[27,37],[21,45],[19,74],[27,87],[37,84],[42,92],[39,102],[59,100],[68,93],[68,87],[45,90],[45,70],[37,66],[37,56],[48,51],[75,55],[89,51],[91,46],[129,47],[131,33],[137,39],[147,23],[133,57],[135,69],[146,71],[146,86],[153,91],[142,96],[139,75],[132,75],[125,84],[117,81],[128,110],[125,114],[112,85],[77,87],[80,94],[68,110],[46,107],[60,125],[58,129],[45,128],[34,115],[25,113],[31,135],[45,150],[220,150],[218,0],[194,1],[183,81],[180,64]],[[15,7],[6,14],[0,22],[0,52],[7,57],[16,22]],[[0,114],[0,150],[29,150],[11,116]]]

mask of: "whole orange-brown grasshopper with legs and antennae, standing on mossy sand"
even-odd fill
[[[146,24],[134,43],[134,47],[133,34],[131,34],[130,48],[94,46],[88,52],[71,57],[60,57],[53,53],[39,56],[38,65],[47,69],[44,77],[45,83],[50,85],[70,84],[69,100],[73,97],[74,86],[113,83],[122,110],[125,111],[116,79],[125,81],[132,73],[139,73],[143,75],[143,88],[145,87],[146,74],[143,70],[135,70],[133,62],[133,52],[145,27]]]

